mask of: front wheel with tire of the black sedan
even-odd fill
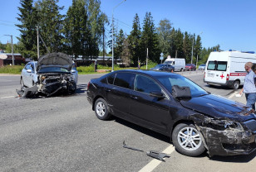
[[[205,151],[203,139],[193,124],[178,124],[172,133],[172,141],[183,155],[198,156]]]

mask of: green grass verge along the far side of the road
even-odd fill
[[[157,65],[156,63],[153,62],[149,62],[148,63],[148,69],[153,68],[155,65]],[[22,73],[22,69],[24,68],[24,65],[5,65],[3,67],[0,67],[0,74],[21,74]],[[145,69],[146,66],[143,65],[140,67],[140,69]],[[96,74],[96,72],[94,72],[94,65],[90,65],[90,66],[80,66],[76,68],[78,71],[78,74]],[[104,66],[104,65],[98,65],[98,69],[112,69],[111,66]],[[121,68],[119,65],[115,65],[114,66],[114,70],[121,70],[121,69],[138,69],[136,67],[127,67],[127,68]]]

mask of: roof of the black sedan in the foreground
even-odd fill
[[[165,71],[156,71],[156,70],[147,70],[147,69],[124,69],[124,70],[117,70],[115,72],[132,72],[136,74],[147,74],[153,77],[159,77],[159,76],[171,76],[171,75],[179,75],[175,73],[165,72]]]

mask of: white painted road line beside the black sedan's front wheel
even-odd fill
[[[170,154],[171,154],[172,152],[174,152],[174,151],[175,151],[175,146],[170,145],[170,146],[168,146],[168,147],[163,151],[163,153],[170,155]],[[156,160],[156,159],[151,160],[151,161],[149,162],[149,164],[145,165],[139,172],[150,172],[150,171],[153,171],[153,170],[155,170],[155,168],[156,168],[158,165],[161,164],[161,162],[162,162],[162,161]]]

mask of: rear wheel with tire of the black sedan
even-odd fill
[[[103,98],[98,98],[94,104],[94,110],[96,117],[101,120],[108,120],[111,117],[111,114],[108,111],[108,106],[106,101]]]

